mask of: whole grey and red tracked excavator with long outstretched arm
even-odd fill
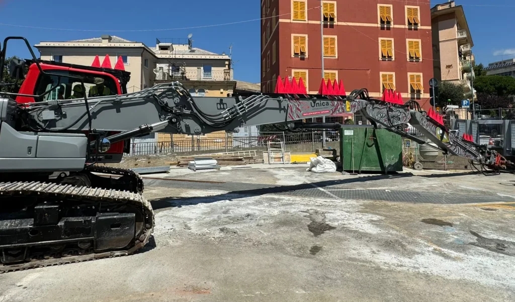
[[[11,78],[25,78],[26,62],[12,60],[5,66],[10,40],[25,42],[30,68],[39,71],[32,83],[46,85],[0,93],[0,272],[131,255],[145,247],[155,218],[142,195],[142,178],[98,163],[114,144],[152,132],[201,135],[262,124],[338,129],[337,123],[302,120],[355,112],[377,128],[424,144],[404,131],[409,123],[444,154],[494,171],[515,168],[469,135],[447,129],[435,112],[422,110],[416,101],[404,104],[391,91],[385,100],[370,98],[367,89],[348,96],[290,89],[215,98],[193,97],[181,83],[170,82],[133,93],[45,100],[62,83],[77,82],[86,91],[85,79],[92,73],[44,70],[24,37],[7,37],[0,70],[8,67]],[[0,83],[10,84],[2,82],[2,75]],[[36,101],[23,101],[27,98]]]

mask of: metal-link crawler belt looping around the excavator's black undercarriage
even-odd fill
[[[93,172],[93,171],[92,171]],[[96,172],[96,171],[95,171]],[[112,173],[111,173],[112,174]],[[125,205],[141,207],[145,215],[143,232],[136,238],[134,244],[125,251],[112,251],[102,253],[89,253],[85,255],[66,256],[56,259],[43,259],[24,262],[13,265],[0,264],[0,273],[41,268],[54,265],[64,265],[67,263],[96,260],[107,257],[131,255],[135,251],[143,248],[149,241],[155,225],[154,214],[150,202],[145,200],[140,193],[128,191],[107,190],[102,188],[74,186],[70,184],[56,184],[47,182],[0,182],[0,198],[17,196],[38,196],[38,197],[57,197],[60,199],[80,200],[82,202],[112,202]]]

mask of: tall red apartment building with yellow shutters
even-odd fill
[[[325,79],[343,80],[347,93],[385,88],[428,108],[433,77],[430,0],[333,0],[323,5]],[[320,0],[262,0],[262,91],[277,77],[302,77],[309,93],[322,79]]]

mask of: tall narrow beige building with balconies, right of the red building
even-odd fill
[[[462,84],[471,91],[474,43],[463,7],[454,1],[431,9],[434,77],[439,81]]]

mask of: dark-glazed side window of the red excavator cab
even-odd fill
[[[84,97],[84,95],[88,96],[88,98],[116,95],[116,84],[111,78],[105,77],[104,75],[84,75],[84,73],[68,70],[52,70],[52,73],[63,76],[59,77],[58,75],[43,75],[43,77],[38,80],[36,85],[35,95],[41,95],[57,84],[59,84],[59,86],[50,91],[50,93],[47,93],[42,98],[42,100],[36,100],[36,102],[81,99]],[[79,81],[68,78],[66,75],[82,78],[84,81],[85,91],[82,91],[82,86],[80,85]]]

